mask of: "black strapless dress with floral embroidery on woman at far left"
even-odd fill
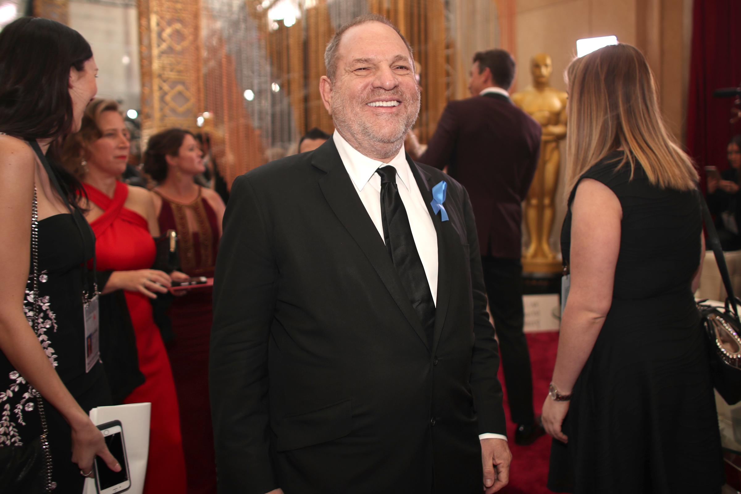
[[[82,215],[79,218],[85,221]],[[81,236],[70,214],[39,221],[41,310],[37,336],[67,390],[86,412],[111,404],[103,365],[98,363],[85,373],[82,266],[85,244],[93,243],[90,230],[84,230]],[[88,247],[88,251],[93,248]],[[26,285],[24,311],[32,324],[33,269]],[[30,444],[41,435],[38,399],[36,391],[0,353],[0,447]],[[44,413],[52,454],[52,480],[57,484],[53,492],[82,493],[84,478],[71,460],[70,427],[47,401]]]

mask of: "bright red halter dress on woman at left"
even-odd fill
[[[150,268],[156,255],[154,241],[147,220],[124,207],[129,195],[127,185],[116,182],[113,198],[90,184],[84,184],[84,188],[90,201],[104,211],[90,224],[96,235],[98,269],[128,271]],[[152,404],[144,494],[185,494],[180,415],[165,344],[152,318],[149,298],[139,292],[127,291],[124,294],[136,333],[139,369],[146,378],[124,403],[149,401]]]

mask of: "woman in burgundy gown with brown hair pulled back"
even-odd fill
[[[154,189],[159,228],[178,234],[180,270],[190,276],[213,276],[222,232],[224,202],[193,177],[205,170],[193,134],[165,130],[149,140],[144,171],[159,182]],[[175,338],[167,344],[183,431],[189,494],[216,493],[216,464],[208,401],[208,347],[211,289],[193,287],[170,307]]]

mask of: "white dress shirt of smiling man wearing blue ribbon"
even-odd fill
[[[419,258],[422,260],[422,266],[425,268],[432,299],[437,305],[437,232],[428,212],[427,204],[422,198],[422,193],[419,192],[419,187],[417,187],[416,180],[407,162],[403,144],[399,153],[391,161],[384,163],[368,158],[368,156],[350,146],[337,130],[334,131],[332,138],[339,157],[342,158],[342,164],[348,170],[350,179],[355,185],[355,190],[363,206],[365,206],[365,210],[368,211],[368,216],[371,216],[382,241],[385,240],[381,217],[381,177],[376,173],[376,170],[385,166],[396,168],[396,188],[399,190],[399,196],[401,196],[407,210],[414,244],[416,244]],[[485,433],[479,435],[479,439],[485,438],[507,439],[502,434]]]

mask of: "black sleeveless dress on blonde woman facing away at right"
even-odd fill
[[[720,493],[722,457],[705,336],[691,280],[700,261],[697,191],[660,189],[622,152],[582,178],[622,206],[612,305],[553,441],[548,488],[577,494]],[[571,245],[569,198],[561,233]]]

